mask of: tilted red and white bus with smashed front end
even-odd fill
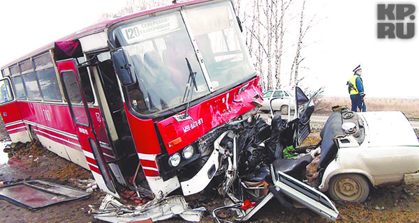
[[[201,192],[226,171],[230,153],[215,144],[262,102],[240,29],[231,1],[194,0],[99,22],[22,56],[1,68],[10,139],[41,141],[116,198]]]

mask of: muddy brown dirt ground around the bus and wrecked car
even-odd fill
[[[0,129],[1,139],[7,139],[3,128]],[[315,125],[314,132],[309,135],[305,144],[316,144],[318,140],[319,128]],[[47,151],[40,144],[14,144],[6,152],[9,161],[0,164],[0,184],[41,179],[80,190],[91,190],[92,176],[89,171]],[[101,222],[95,220],[88,210],[89,205],[98,207],[104,195],[103,192],[94,190],[89,199],[71,201],[41,210],[28,210],[0,200],[0,222]],[[186,200],[192,208],[204,206],[207,210],[212,210],[222,206],[220,198],[193,196],[187,197]],[[336,206],[339,210],[337,222],[419,222],[419,185],[374,188],[365,203],[337,202]],[[175,217],[165,222],[183,220]],[[207,212],[201,222],[215,221],[210,217],[210,212]],[[250,222],[330,221],[307,209],[288,210],[272,199]]]

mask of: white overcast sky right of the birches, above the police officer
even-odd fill
[[[328,95],[347,95],[345,84],[360,64],[367,97],[419,98],[419,2],[325,2],[318,15],[326,19],[308,34],[318,42],[304,52],[313,71],[307,77],[309,83],[324,83]],[[416,5],[415,36],[409,40],[378,39],[377,4],[398,2]]]

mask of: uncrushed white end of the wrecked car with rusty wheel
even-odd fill
[[[319,190],[343,201],[365,201],[369,186],[419,182],[419,141],[402,112],[338,109],[321,132]]]

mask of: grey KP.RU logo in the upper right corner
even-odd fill
[[[377,37],[409,39],[415,36],[415,6],[412,4],[378,4]]]

